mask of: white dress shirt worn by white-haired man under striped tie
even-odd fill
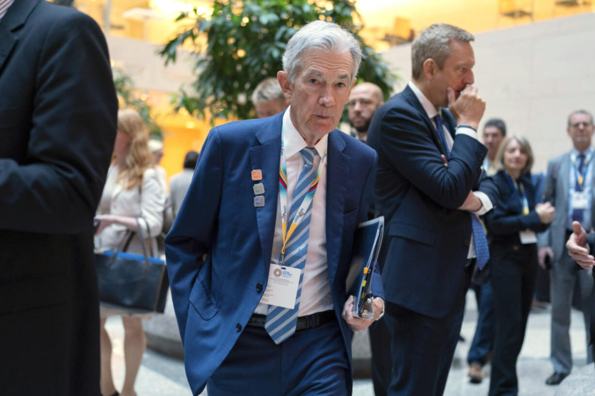
[[[289,115],[290,107],[283,115],[283,128],[285,141],[286,168],[287,168],[287,206],[291,205],[293,191],[297,185],[297,179],[303,168],[303,158],[300,150],[308,147],[303,137],[299,134]],[[318,156],[314,158],[314,164],[321,166],[320,160],[327,145],[328,135],[325,135],[314,146]],[[333,296],[331,294],[330,282],[328,281],[327,268],[327,235],[325,227],[327,197],[327,167],[323,166],[320,173],[320,181],[314,198],[312,199],[312,212],[308,234],[308,252],[306,263],[303,269],[302,296],[300,297],[297,316],[310,315],[311,313],[322,312],[333,309]],[[273,237],[273,252],[271,263],[278,264],[283,245],[281,231],[281,203],[277,199],[277,221],[275,221],[275,234]],[[289,213],[290,208],[287,208]],[[291,221],[292,219],[288,219]],[[267,315],[268,304],[259,303],[254,313]]]

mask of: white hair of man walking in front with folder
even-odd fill
[[[283,70],[289,75],[291,83],[295,82],[299,74],[305,52],[317,49],[337,54],[350,52],[353,59],[351,80],[355,79],[362,62],[362,49],[358,40],[349,30],[336,23],[314,21],[297,30],[287,43],[283,54]]]

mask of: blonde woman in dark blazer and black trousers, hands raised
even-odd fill
[[[498,205],[486,215],[496,335],[489,396],[516,396],[516,359],[525,338],[537,279],[537,237],[552,222],[554,208],[537,203],[531,184],[533,152],[523,137],[509,137],[496,156],[493,180]]]

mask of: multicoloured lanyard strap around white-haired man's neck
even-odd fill
[[[283,231],[283,247],[281,247],[281,258],[279,260],[279,265],[283,263],[283,258],[285,256],[285,247],[287,245],[287,241],[292,236],[293,231],[297,228],[297,225],[300,224],[304,215],[306,214],[306,210],[308,210],[309,206],[312,203],[312,199],[314,198],[314,194],[316,193],[316,189],[318,188],[318,181],[320,180],[320,175],[322,171],[322,167],[325,164],[325,158],[327,156],[327,145],[328,145],[328,138],[327,143],[324,146],[324,154],[320,159],[320,164],[318,165],[318,170],[316,172],[316,177],[312,180],[312,184],[310,188],[308,188],[308,192],[305,194],[302,200],[302,205],[300,205],[299,209],[296,212],[292,220],[292,224],[289,226],[289,230],[287,230],[287,165],[285,159],[285,150],[283,148],[285,142],[285,128],[281,128],[281,161],[279,162],[279,195],[281,198],[281,230]],[[314,166],[314,164],[312,164]],[[295,202],[294,202],[295,204]]]

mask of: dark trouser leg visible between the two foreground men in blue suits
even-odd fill
[[[372,351],[372,383],[375,396],[386,396],[393,360],[390,357],[390,331],[384,319],[368,328]]]

